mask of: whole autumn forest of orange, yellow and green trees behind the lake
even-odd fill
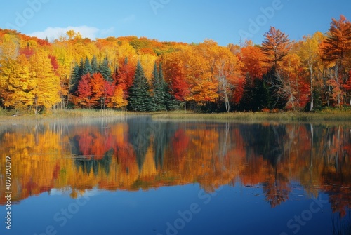
[[[195,112],[341,109],[351,102],[351,23],[291,41],[270,27],[261,45],[159,42],[136,36],[53,41],[0,29],[0,105]]]

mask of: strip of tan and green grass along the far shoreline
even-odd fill
[[[338,121],[351,122],[351,109],[324,109],[321,112],[231,112],[220,114],[198,114],[194,112],[155,112],[155,113],[133,113],[114,110],[95,110],[95,109],[57,109],[46,114],[21,114],[15,112],[0,112],[0,124],[21,123],[27,121],[51,121],[55,119],[93,119],[102,117],[126,117],[135,115],[150,115],[155,120],[183,120],[183,121]]]

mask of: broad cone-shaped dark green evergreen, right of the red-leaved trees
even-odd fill
[[[140,62],[136,66],[133,84],[129,88],[127,108],[133,112],[154,111],[154,100],[150,94],[150,86]]]

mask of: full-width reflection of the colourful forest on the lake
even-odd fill
[[[13,201],[52,189],[152,189],[199,183],[206,192],[240,182],[262,187],[272,208],[294,182],[325,192],[345,217],[351,202],[351,129],[312,124],[177,123],[150,117],[95,123],[3,126],[12,157]],[[0,166],[4,173],[4,164]],[[4,188],[4,177],[0,187]],[[5,204],[4,191],[0,203]]]

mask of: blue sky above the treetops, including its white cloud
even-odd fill
[[[14,0],[0,8],[0,28],[53,39],[68,29],[91,39],[147,36],[159,41],[260,44],[274,26],[299,40],[326,32],[331,18],[351,20],[350,0]]]

